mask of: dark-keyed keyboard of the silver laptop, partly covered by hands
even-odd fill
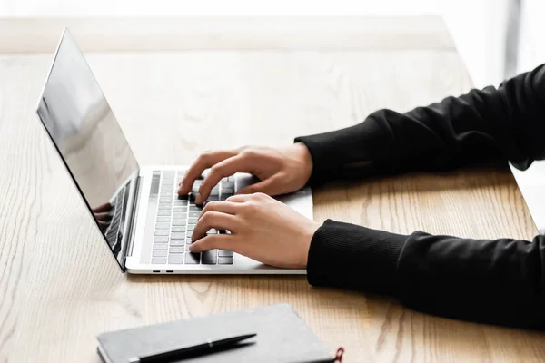
[[[193,184],[189,195],[178,196],[178,184],[184,172],[163,171],[159,189],[159,203],[155,216],[153,264],[233,265],[232,250],[209,250],[203,253],[189,251],[191,235],[203,206],[194,203],[203,178]],[[234,194],[234,177],[223,178],[207,201],[224,201]],[[206,234],[225,233],[210,230]]]

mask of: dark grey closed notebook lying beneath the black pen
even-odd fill
[[[244,309],[205,318],[184,319],[99,335],[98,352],[106,363],[237,335],[257,333],[243,345],[183,362],[333,362],[291,305]]]

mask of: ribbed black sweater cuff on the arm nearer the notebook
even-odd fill
[[[327,220],[312,237],[311,285],[397,297],[397,262],[409,236]]]

